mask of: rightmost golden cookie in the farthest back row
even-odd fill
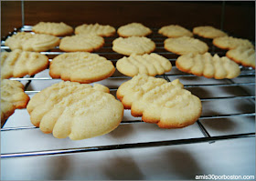
[[[216,37],[227,36],[225,32],[210,25],[194,27],[193,34],[211,39]]]

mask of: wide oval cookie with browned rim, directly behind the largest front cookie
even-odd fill
[[[65,53],[50,62],[49,75],[72,82],[92,83],[111,76],[112,61],[88,52]]]

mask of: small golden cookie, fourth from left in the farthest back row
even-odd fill
[[[167,37],[193,36],[192,32],[180,25],[165,25],[158,30],[158,34]]]

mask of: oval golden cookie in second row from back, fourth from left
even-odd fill
[[[196,38],[182,36],[165,39],[165,49],[177,55],[188,53],[204,54],[208,52],[208,45]]]

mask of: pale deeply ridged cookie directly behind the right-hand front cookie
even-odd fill
[[[123,75],[145,74],[155,76],[169,72],[172,69],[172,64],[164,56],[152,53],[150,55],[123,56],[116,62],[116,68]]]

